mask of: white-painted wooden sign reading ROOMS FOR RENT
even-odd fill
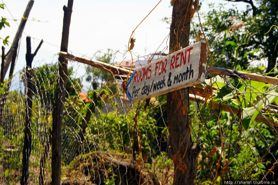
[[[206,65],[207,46],[200,41],[135,69],[126,95],[136,102],[204,82]]]

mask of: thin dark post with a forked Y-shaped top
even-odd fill
[[[25,119],[25,129],[24,129],[24,145],[22,153],[22,176],[20,180],[21,185],[28,184],[29,177],[29,158],[32,151],[32,132],[31,132],[31,121],[32,121],[32,61],[36,56],[43,40],[40,41],[34,54],[31,53],[31,37],[26,37],[26,119]],[[11,66],[12,67],[12,66]]]

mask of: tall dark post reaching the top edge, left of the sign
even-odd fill
[[[68,6],[64,6],[63,31],[61,40],[61,50],[68,52],[69,33],[70,33],[70,19],[72,13],[73,0],[68,0]],[[65,58],[59,57],[59,76],[57,78],[57,92],[55,106],[52,112],[52,158],[51,158],[51,184],[61,184],[61,161],[62,161],[62,121],[63,109],[65,107],[65,91],[68,81],[68,61]]]

